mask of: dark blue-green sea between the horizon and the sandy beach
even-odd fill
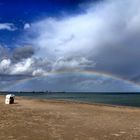
[[[6,94],[6,93],[4,93]],[[140,107],[140,93],[13,93],[36,99],[65,100],[83,103]]]

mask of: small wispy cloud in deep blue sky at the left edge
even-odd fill
[[[13,23],[0,23],[0,30],[15,31],[17,28]]]

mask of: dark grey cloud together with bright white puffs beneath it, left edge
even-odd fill
[[[12,51],[0,46],[0,74],[2,75],[45,75],[52,64],[47,59],[35,58],[31,46],[19,46]]]

